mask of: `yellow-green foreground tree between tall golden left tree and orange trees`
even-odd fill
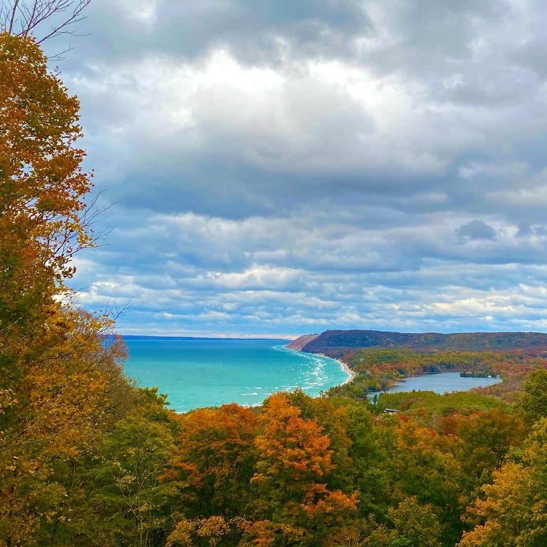
[[[72,508],[68,529],[78,545],[161,545],[172,526],[168,502],[174,494],[159,478],[176,449],[168,424],[132,410],[104,437],[85,465],[92,479],[82,510]],[[92,540],[90,541],[90,539]]]

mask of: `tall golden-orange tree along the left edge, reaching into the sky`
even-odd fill
[[[53,517],[50,459],[78,455],[121,374],[112,321],[65,284],[93,245],[78,108],[32,39],[0,34],[0,545]]]

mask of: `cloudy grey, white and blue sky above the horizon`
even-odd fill
[[[547,5],[92,0],[82,103],[122,334],[547,331]]]

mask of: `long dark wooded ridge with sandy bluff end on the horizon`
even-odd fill
[[[513,351],[539,355],[547,352],[545,333],[395,333],[381,330],[326,330],[306,334],[287,345],[307,353],[337,357],[358,348],[410,348],[415,351]]]

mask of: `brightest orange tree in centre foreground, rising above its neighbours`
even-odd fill
[[[256,518],[247,537],[255,543],[269,538],[272,545],[318,545],[355,513],[357,494],[327,488],[334,467],[330,439],[317,419],[305,420],[286,394],[267,399],[260,422],[252,478]]]

